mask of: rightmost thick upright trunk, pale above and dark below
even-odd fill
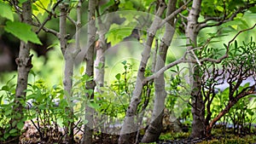
[[[186,29],[186,37],[189,53],[189,58],[196,59],[195,53],[193,51],[196,48],[196,38],[198,35],[198,17],[201,12],[201,0],[194,0],[192,4],[192,9],[190,9],[188,16],[188,26]],[[205,136],[205,105],[203,101],[203,96],[201,95],[201,78],[199,73],[199,65],[189,63],[189,73],[190,73],[190,84],[191,97],[192,97],[192,133],[191,137],[203,137]]]

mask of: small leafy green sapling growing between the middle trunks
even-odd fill
[[[131,89],[134,85],[132,66],[126,60],[122,62],[125,72],[116,74],[116,80],[108,89],[101,88],[102,93],[96,93],[96,103],[100,105],[99,112],[110,118],[123,118],[125,109],[131,98]]]

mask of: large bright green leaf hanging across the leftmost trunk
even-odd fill
[[[4,30],[6,32],[12,33],[13,35],[15,35],[15,37],[20,38],[20,40],[24,41],[25,43],[27,43],[27,41],[30,41],[32,43],[42,45],[37,34],[35,32],[32,32],[32,27],[25,23],[18,21],[7,21]]]

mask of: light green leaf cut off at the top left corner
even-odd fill
[[[11,7],[0,1],[0,15],[8,20],[14,21],[14,14]]]

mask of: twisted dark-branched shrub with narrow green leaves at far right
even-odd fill
[[[241,45],[241,46],[239,46]],[[227,47],[225,45],[225,47]],[[242,84],[241,82],[247,78],[255,76],[256,65],[254,62],[256,44],[253,39],[248,43],[239,44],[237,41],[232,43],[229,51],[229,57],[223,60],[219,65],[212,62],[205,62],[201,66],[202,93],[210,103],[211,119],[218,116],[220,112],[228,106],[229,102],[242,91],[247,91],[250,85],[255,86],[255,82],[251,84]],[[216,49],[205,48],[202,51],[204,57],[218,58],[220,54]],[[217,88],[218,85],[227,84],[227,88],[223,91]],[[233,124],[235,133],[250,133],[251,124],[256,112],[255,101],[253,95],[244,95],[236,105],[230,108],[230,111],[221,118],[221,123]],[[250,97],[250,99],[248,98]],[[207,111],[207,114],[210,112]],[[209,119],[209,120],[211,120]]]

